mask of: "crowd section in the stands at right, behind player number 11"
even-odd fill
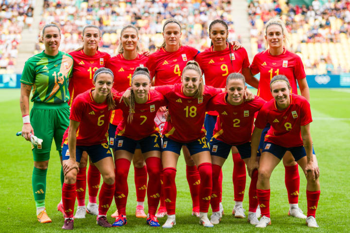
[[[263,25],[281,17],[289,30],[290,49],[307,74],[350,72],[350,1],[314,0],[298,6],[284,0],[252,0],[248,6],[253,54],[265,50]]]

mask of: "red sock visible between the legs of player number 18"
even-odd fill
[[[200,176],[197,170],[197,166],[186,165],[186,178],[190,186],[192,207],[197,207],[199,206],[199,185],[200,185]]]

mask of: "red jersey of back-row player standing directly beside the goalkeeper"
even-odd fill
[[[88,56],[83,50],[69,53],[74,60],[73,76],[69,82],[70,103],[75,97],[93,87],[92,80],[98,68],[105,67],[110,55],[106,52],[96,51],[95,55]]]

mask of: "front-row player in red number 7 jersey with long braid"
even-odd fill
[[[159,227],[156,211],[160,197],[161,137],[154,118],[161,106],[167,105],[163,95],[150,90],[151,79],[146,67],[137,67],[131,78],[129,107],[121,105],[123,119],[115,135],[114,157],[116,183],[115,201],[119,216],[113,226],[119,227],[126,221],[126,200],[128,197],[127,176],[136,146],[144,156],[149,181],[147,184],[148,218],[147,224]],[[111,136],[111,135],[110,135]]]

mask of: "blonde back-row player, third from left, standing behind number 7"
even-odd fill
[[[106,64],[115,74],[113,88],[117,91],[125,91],[130,87],[132,74],[136,67],[144,67],[148,60],[147,56],[140,54],[139,31],[133,25],[126,25],[123,27],[120,36],[120,43],[118,45],[118,55],[112,57]],[[115,142],[114,136],[118,124],[123,119],[122,110],[117,109],[112,112],[110,125],[108,129],[109,145],[114,150]],[[132,157],[134,171],[135,171],[135,187],[136,187],[136,217],[147,217],[144,213],[144,199],[146,196],[147,187],[147,168],[145,165],[144,156],[141,153],[140,145],[138,144]],[[117,195],[115,200],[117,201]],[[118,209],[112,214],[112,217],[118,217],[121,213]]]

